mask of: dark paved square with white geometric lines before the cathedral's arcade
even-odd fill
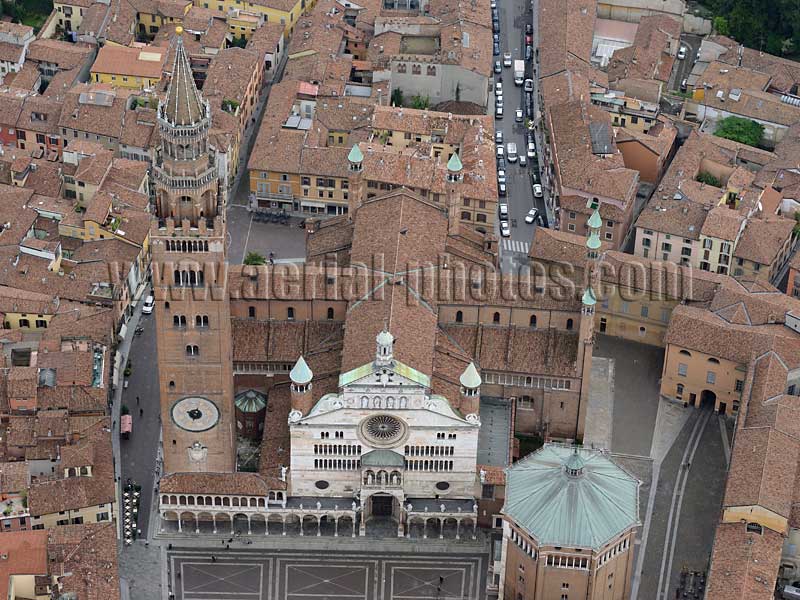
[[[485,554],[175,549],[176,600],[484,600]]]

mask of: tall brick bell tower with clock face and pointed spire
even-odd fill
[[[164,472],[236,469],[230,301],[223,202],[208,152],[211,110],[176,28],[175,62],[158,106],[153,179],[153,291]]]

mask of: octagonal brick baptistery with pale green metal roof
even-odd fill
[[[640,483],[604,452],[561,444],[510,467],[500,597],[629,598]]]

